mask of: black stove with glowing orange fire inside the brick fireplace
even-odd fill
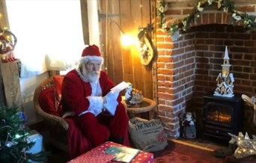
[[[242,123],[243,99],[236,94],[233,97],[204,96],[203,136],[230,140],[228,132],[237,135]]]

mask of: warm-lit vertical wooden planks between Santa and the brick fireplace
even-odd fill
[[[135,45],[121,46],[121,31],[137,37],[139,27],[147,27],[152,19],[150,7],[154,0],[101,0],[101,43],[104,49],[107,73],[115,84],[131,82],[133,87],[153,99],[152,64],[141,64]],[[103,16],[105,14],[105,16]]]

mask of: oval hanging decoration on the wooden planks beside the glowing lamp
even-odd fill
[[[141,64],[148,65],[153,58],[153,43],[150,40],[150,36],[147,30],[142,29],[138,33],[138,42],[139,42],[139,55],[141,58]]]

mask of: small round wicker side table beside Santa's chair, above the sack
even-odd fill
[[[128,108],[127,107],[127,112],[129,115],[129,118],[135,117],[135,114],[141,114],[149,111],[149,120],[153,119],[155,107],[156,107],[156,102],[153,101],[152,99],[147,99],[143,98],[144,101],[141,102],[140,106],[137,108]]]

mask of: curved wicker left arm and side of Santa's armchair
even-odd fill
[[[49,87],[53,87],[53,79],[45,79],[34,90],[34,108],[36,114],[43,118],[44,124],[49,129],[49,142],[60,150],[68,152],[67,144],[67,131],[69,129],[69,123],[62,117],[58,117],[53,114],[49,114],[40,106],[39,96],[43,90]]]

